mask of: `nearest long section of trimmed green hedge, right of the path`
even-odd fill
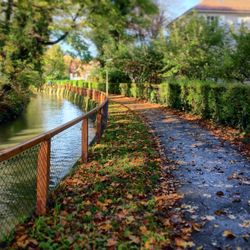
[[[173,80],[160,86],[160,102],[202,118],[250,131],[250,86]]]

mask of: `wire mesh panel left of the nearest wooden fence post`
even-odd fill
[[[37,160],[40,144],[0,162],[0,232],[7,234],[36,205]]]

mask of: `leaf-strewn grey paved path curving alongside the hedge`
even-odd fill
[[[250,249],[250,161],[229,143],[162,111],[158,104],[112,99],[144,115],[168,159],[177,163],[174,175],[180,182],[179,193],[184,194],[182,209],[188,219],[203,225],[193,234],[196,247]]]

